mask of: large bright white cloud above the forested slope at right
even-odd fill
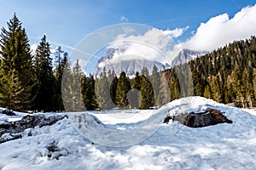
[[[201,23],[195,34],[178,47],[212,51],[226,43],[256,35],[255,20],[256,4],[242,8],[232,19],[228,14],[220,14],[212,17],[207,23]]]

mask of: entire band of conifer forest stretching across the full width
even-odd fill
[[[256,37],[232,42],[164,71],[154,65],[151,73],[143,68],[128,77],[124,71],[116,75],[104,69],[94,77],[84,74],[79,60],[71,65],[61,48],[53,63],[46,36],[32,54],[17,16],[7,24],[0,40],[0,105],[9,110],[148,109],[189,95],[224,104],[235,102],[240,107],[256,105]],[[183,81],[186,77],[191,84]]]

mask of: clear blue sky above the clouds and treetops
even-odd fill
[[[146,24],[161,30],[189,26],[180,37],[185,40],[201,22],[224,13],[231,18],[241,8],[254,3],[256,1],[252,0],[12,0],[1,2],[0,26],[6,27],[6,22],[16,13],[32,43],[46,34],[52,46],[56,42],[75,47],[90,32],[124,22]]]

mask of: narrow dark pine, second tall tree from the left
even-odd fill
[[[55,78],[50,58],[50,45],[44,36],[36,49],[34,69],[37,77],[35,109],[54,111]]]

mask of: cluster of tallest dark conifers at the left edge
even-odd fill
[[[16,16],[1,29],[0,40],[0,105],[15,111],[63,111],[61,77],[67,64],[67,53],[53,69],[50,45],[44,36],[36,54],[25,29]]]

